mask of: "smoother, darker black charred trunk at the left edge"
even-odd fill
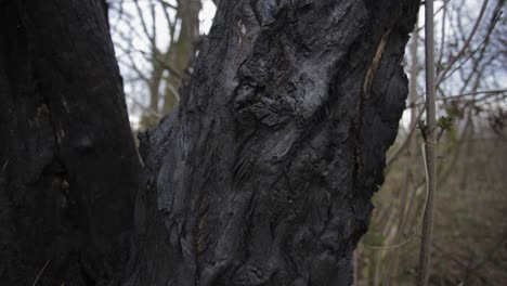
[[[117,284],[139,160],[102,0],[0,0],[0,284]]]

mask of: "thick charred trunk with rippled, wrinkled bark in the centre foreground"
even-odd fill
[[[220,1],[180,108],[141,140],[127,284],[351,284],[418,5]]]

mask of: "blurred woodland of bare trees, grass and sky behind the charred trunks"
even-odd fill
[[[214,1],[217,2],[217,1]],[[134,132],[178,106],[179,88],[206,44],[211,0],[109,0],[109,23]],[[424,8],[421,8],[424,10]],[[421,11],[422,12],[422,11]],[[431,285],[507,285],[507,18],[505,0],[435,2],[438,147]],[[413,285],[426,203],[424,23],[404,62],[411,93],[356,285]],[[450,121],[448,119],[452,119]]]

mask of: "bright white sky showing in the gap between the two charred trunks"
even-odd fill
[[[173,6],[178,4],[176,0],[164,1]],[[152,67],[146,57],[151,54],[153,42],[162,52],[168,49],[171,35],[167,18],[173,21],[176,10],[167,9],[166,14],[157,1],[110,0],[108,2],[113,41],[125,79],[127,103],[131,107],[130,120],[135,125],[140,119],[140,105],[147,106],[150,100],[147,86],[142,82],[139,73],[148,77]],[[155,4],[153,13],[152,4]],[[202,34],[208,34],[217,9],[211,0],[203,0],[202,4],[199,29]],[[179,37],[180,24],[177,23],[173,37]]]

